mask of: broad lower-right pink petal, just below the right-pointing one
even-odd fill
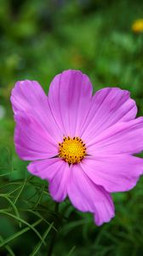
[[[89,156],[81,165],[83,172],[108,192],[133,189],[143,172],[143,160],[125,154]]]

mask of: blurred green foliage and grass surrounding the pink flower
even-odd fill
[[[46,93],[54,75],[80,69],[94,91],[130,90],[143,115],[143,18],[140,0],[0,0],[0,255],[143,255],[143,178],[113,195],[116,217],[96,227],[66,200],[54,212],[47,183],[31,177],[14,152],[10,91],[34,79]],[[54,227],[55,230],[54,231]]]

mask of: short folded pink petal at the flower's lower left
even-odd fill
[[[49,181],[49,192],[55,201],[65,200],[70,168],[64,160],[53,158],[34,161],[27,169],[33,175]]]

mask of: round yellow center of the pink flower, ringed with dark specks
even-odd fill
[[[59,143],[59,157],[69,164],[80,163],[86,154],[85,144],[80,137],[64,137]]]

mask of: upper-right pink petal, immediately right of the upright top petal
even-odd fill
[[[86,122],[81,130],[84,140],[90,140],[119,121],[134,119],[137,108],[128,90],[105,88],[93,96]]]

